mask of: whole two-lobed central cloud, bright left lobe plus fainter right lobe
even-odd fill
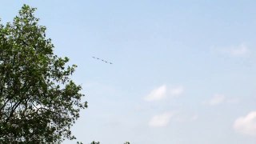
[[[182,86],[169,88],[166,85],[162,85],[152,90],[150,94],[146,95],[144,99],[146,101],[158,101],[166,98],[167,95],[170,95],[172,97],[178,97],[183,92],[184,88]]]

